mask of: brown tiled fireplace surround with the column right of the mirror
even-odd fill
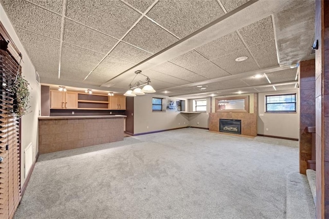
[[[253,106],[252,113],[210,113],[209,131],[220,131],[220,119],[241,119],[241,134],[257,136],[257,94],[252,94],[253,98],[249,99],[249,105]]]

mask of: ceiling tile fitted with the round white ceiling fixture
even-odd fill
[[[248,59],[242,62],[235,61],[236,58],[243,56],[248,57]],[[226,56],[214,59],[212,61],[233,75],[259,69],[257,64],[251,58],[247,49],[230,53]]]

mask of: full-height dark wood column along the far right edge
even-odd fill
[[[316,0],[316,214],[329,218],[329,1]]]

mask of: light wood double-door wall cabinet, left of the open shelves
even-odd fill
[[[53,109],[78,108],[78,94],[74,92],[60,92],[58,90],[51,90],[50,108]]]

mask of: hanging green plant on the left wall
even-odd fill
[[[30,84],[22,76],[18,75],[12,86],[13,113],[16,117],[21,118],[27,113],[29,106],[29,86]]]

